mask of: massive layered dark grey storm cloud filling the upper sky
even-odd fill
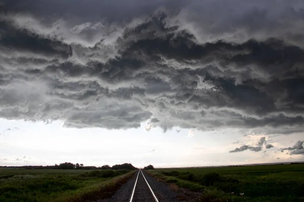
[[[303,131],[299,1],[2,3],[1,118]]]

